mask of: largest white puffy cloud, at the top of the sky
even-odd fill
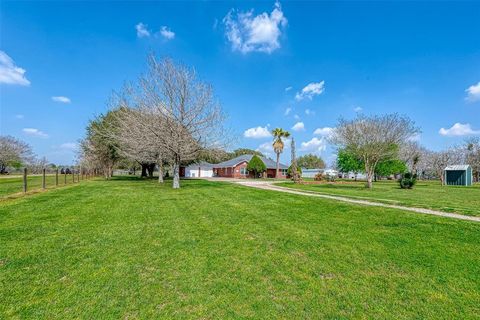
[[[253,15],[248,12],[236,12],[234,9],[223,18],[225,34],[232,45],[232,50],[242,53],[252,51],[271,53],[280,48],[279,38],[287,25],[279,2],[273,11]]]

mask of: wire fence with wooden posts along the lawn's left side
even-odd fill
[[[0,176],[0,199],[12,195],[58,188],[79,183],[98,176],[96,172],[82,169],[53,170],[43,169],[40,174],[31,174],[27,168],[22,174]]]

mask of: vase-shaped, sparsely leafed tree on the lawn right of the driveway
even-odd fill
[[[418,132],[409,118],[396,113],[359,115],[354,120],[340,119],[330,140],[363,161],[371,188],[378,162],[396,158],[399,148]]]

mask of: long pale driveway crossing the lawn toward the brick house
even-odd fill
[[[355,204],[366,205],[366,206],[400,209],[400,210],[412,211],[412,212],[423,213],[423,214],[431,214],[431,215],[434,215],[434,216],[440,216],[440,217],[446,217],[446,218],[480,222],[480,217],[466,216],[466,215],[458,214],[458,213],[448,213],[448,212],[436,211],[436,210],[430,210],[430,209],[404,207],[404,206],[398,206],[398,205],[393,205],[393,204],[385,204],[385,203],[373,202],[373,201],[367,201],[367,200],[351,199],[351,198],[341,197],[341,196],[331,196],[331,195],[320,194],[320,193],[316,193],[316,192],[295,190],[295,189],[292,189],[292,188],[276,186],[273,182],[246,181],[246,180],[241,181],[241,180],[238,180],[238,179],[236,179],[236,181],[232,179],[232,180],[229,180],[229,182],[235,182],[235,183],[238,183],[238,184],[243,185],[243,186],[258,188],[258,189],[263,189],[263,190],[272,190],[272,191],[277,191],[277,192],[299,194],[299,195],[309,196],[309,197],[333,199],[333,200],[337,200],[337,201],[355,203]]]

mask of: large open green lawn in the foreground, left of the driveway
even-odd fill
[[[0,202],[4,319],[474,319],[480,224],[201,180]]]

